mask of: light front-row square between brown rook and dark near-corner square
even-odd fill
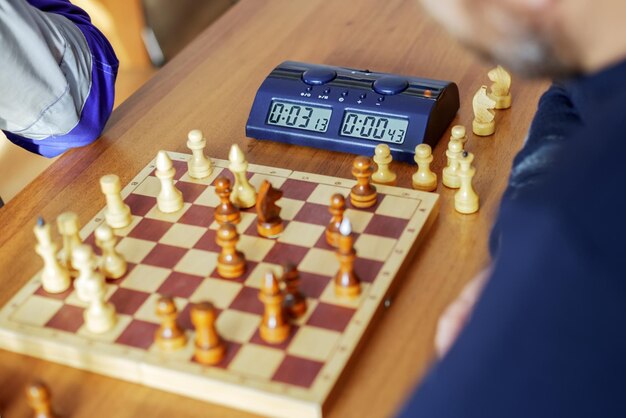
[[[269,379],[284,358],[285,353],[281,350],[248,344],[241,347],[228,369],[248,376]]]

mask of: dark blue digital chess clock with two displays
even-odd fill
[[[286,61],[259,88],[246,134],[364,155],[386,143],[396,160],[412,162],[458,110],[451,82]]]

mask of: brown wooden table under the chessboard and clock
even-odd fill
[[[488,83],[487,67],[439,29],[416,1],[241,0],[137,94],[120,106],[100,141],[68,152],[0,210],[0,304],[41,267],[33,246],[36,217],[67,210],[90,219],[104,204],[98,179],[117,173],[126,184],[159,149],[186,152],[186,133],[202,129],[209,152],[227,158],[232,143],[258,164],[350,177],[352,156],[252,141],[245,123],[254,93],[283,60],[370,68],[456,81],[471,126],[471,98]],[[515,79],[513,109],[497,115],[497,133],[471,137],[475,188],[482,207],[463,216],[454,191],[439,187],[439,220],[419,250],[399,294],[358,353],[337,391],[329,417],[391,416],[433,358],[437,318],[461,287],[488,263],[487,237],[545,83]],[[435,172],[445,164],[446,140],[435,149]],[[413,166],[397,164],[410,187]],[[27,416],[25,385],[47,381],[54,404],[74,417],[246,417],[246,413],[111,378],[0,352],[0,409]]]

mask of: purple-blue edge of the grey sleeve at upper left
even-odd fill
[[[81,147],[95,141],[113,110],[115,78],[118,60],[105,36],[91,23],[89,15],[68,0],[27,0],[32,6],[48,13],[62,15],[78,26],[85,35],[91,50],[92,83],[83,107],[80,121],[65,135],[32,140],[5,132],[16,145],[45,157],[55,157],[70,148]]]

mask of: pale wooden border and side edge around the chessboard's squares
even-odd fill
[[[188,161],[190,158],[188,154],[174,152],[168,154],[172,160],[179,162]],[[216,167],[227,168],[229,162],[213,159],[213,164]],[[153,160],[122,190],[122,197],[129,196],[154,171],[154,167]],[[354,180],[255,164],[250,164],[248,171],[346,189],[355,184]],[[356,313],[341,335],[339,348],[325,362],[320,378],[309,389],[263,379],[243,379],[228,370],[181,361],[181,357],[176,353],[124,347],[103,342],[94,335],[69,334],[13,320],[13,315],[17,315],[16,312],[20,309],[22,310],[20,315],[23,317],[23,311],[26,309],[24,305],[31,298],[37,297],[34,294],[41,287],[40,272],[0,310],[0,348],[267,416],[320,418],[341,374],[346,370],[363,337],[371,328],[377,312],[389,298],[393,285],[397,284],[396,279],[410,262],[438,212],[437,194],[391,186],[376,187],[379,192],[387,195],[419,200],[419,210],[415,210],[409,219],[407,227],[384,262],[375,282],[364,290]],[[104,209],[82,228],[81,238],[86,239],[103,222]],[[33,252],[33,259],[35,258]],[[39,314],[36,305],[28,309],[32,312],[27,313],[35,318]],[[189,355],[192,351],[193,338],[190,335],[187,347],[182,353]]]

